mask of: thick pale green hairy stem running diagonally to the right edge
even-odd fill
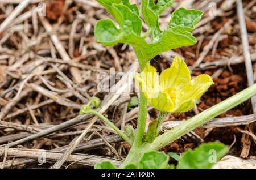
[[[150,145],[150,149],[158,150],[165,147],[174,140],[179,139],[181,136],[187,134],[189,131],[192,131],[193,129],[200,127],[201,125],[204,125],[204,123],[210,121],[210,119],[216,117],[217,115],[220,115],[221,113],[226,112],[229,109],[234,108],[238,104],[241,104],[242,102],[248,100],[254,95],[256,95],[256,84],[244,89],[243,91],[237,93],[232,97],[229,97],[228,99],[220,102],[219,104],[214,105],[207,110],[204,110],[204,112],[195,115],[181,125],[176,126],[171,130],[165,132],[164,134],[158,136]]]

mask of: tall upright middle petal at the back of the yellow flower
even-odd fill
[[[190,72],[183,59],[175,57],[170,68],[164,70],[160,75],[160,88],[162,91],[174,88],[179,91],[191,80]]]

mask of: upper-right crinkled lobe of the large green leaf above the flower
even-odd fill
[[[174,32],[191,32],[197,23],[200,22],[203,12],[199,10],[187,10],[183,7],[172,14],[168,28]]]

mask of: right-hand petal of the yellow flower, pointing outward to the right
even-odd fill
[[[179,110],[186,101],[199,99],[212,84],[214,84],[212,78],[206,74],[199,75],[191,80],[178,92],[175,109]]]

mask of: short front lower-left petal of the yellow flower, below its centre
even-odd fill
[[[165,92],[159,92],[157,98],[147,98],[147,102],[162,112],[171,112],[174,109],[174,102],[168,93]]]

